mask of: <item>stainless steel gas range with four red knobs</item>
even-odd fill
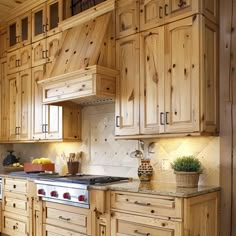
[[[48,175],[35,182],[37,195],[45,201],[89,208],[89,186],[120,181],[128,181],[128,178],[97,175]]]

